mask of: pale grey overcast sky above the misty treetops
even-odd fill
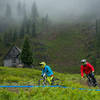
[[[35,1],[38,11],[42,16],[47,13],[53,19],[79,17],[86,14],[99,14],[100,0],[0,0],[2,2],[26,3],[27,8],[31,9],[32,3]]]

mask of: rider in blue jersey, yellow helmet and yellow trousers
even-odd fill
[[[41,62],[40,66],[42,67],[42,77],[44,76],[44,74],[47,75],[47,81],[49,82],[49,84],[52,84],[52,79],[53,79],[53,71],[51,70],[51,68],[46,65],[45,62]]]

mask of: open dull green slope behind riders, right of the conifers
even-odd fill
[[[40,38],[48,46],[52,68],[60,72],[80,73],[80,60],[83,58],[87,58],[96,67],[95,24],[62,25],[59,28],[62,28],[60,32]]]

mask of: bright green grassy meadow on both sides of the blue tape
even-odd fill
[[[41,71],[36,69],[0,67],[0,85],[37,85]],[[61,85],[89,88],[80,74],[54,72]],[[97,79],[100,76],[96,76]],[[96,87],[97,88],[97,87]],[[0,100],[99,100],[100,92],[71,88],[1,88]]]

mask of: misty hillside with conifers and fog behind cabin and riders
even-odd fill
[[[29,37],[33,66],[46,61],[59,72],[80,72],[86,58],[99,73],[99,0],[0,1],[0,65],[9,49]]]

